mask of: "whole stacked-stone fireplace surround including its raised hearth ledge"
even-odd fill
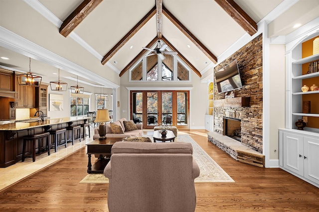
[[[214,132],[211,141],[231,157],[241,162],[263,166],[263,64],[262,34],[247,43],[232,56],[214,68],[214,72],[237,60],[243,87],[234,90],[241,105],[225,103],[224,93],[214,86]],[[244,104],[244,99],[248,104]],[[235,100],[234,100],[235,101]],[[236,100],[237,101],[237,100]],[[215,104],[216,103],[216,104]],[[241,120],[241,142],[224,136],[223,117]]]

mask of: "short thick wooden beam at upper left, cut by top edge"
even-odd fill
[[[62,23],[59,31],[68,36],[102,0],[84,0]]]

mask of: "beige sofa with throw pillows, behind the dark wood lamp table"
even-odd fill
[[[125,139],[125,138],[142,137],[143,136],[142,124],[134,124],[138,128],[138,130],[127,131],[125,129],[124,121],[127,121],[126,118],[123,118],[123,119],[120,119],[120,120],[113,122],[114,124],[121,126],[121,128],[124,132],[123,134],[112,133],[110,123],[107,123],[106,124],[106,137],[107,138],[123,138],[123,139]],[[98,138],[100,138],[99,128],[95,128],[93,139],[98,139]]]

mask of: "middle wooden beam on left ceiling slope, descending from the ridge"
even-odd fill
[[[106,55],[101,63],[105,65],[156,13],[154,6]]]

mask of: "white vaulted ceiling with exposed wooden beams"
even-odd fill
[[[10,58],[0,65],[28,71],[31,57],[39,74],[60,68],[62,77],[116,87],[142,47],[162,39],[201,76],[258,23],[277,37],[318,17],[319,0],[0,0],[0,57]],[[22,47],[8,44],[12,35]]]

